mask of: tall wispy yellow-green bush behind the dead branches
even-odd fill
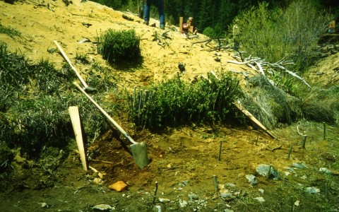
[[[285,10],[274,11],[263,2],[239,16],[241,49],[271,63],[292,60],[296,70],[304,71],[328,20],[311,1],[293,1]]]

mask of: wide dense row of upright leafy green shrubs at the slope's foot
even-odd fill
[[[129,95],[131,117],[139,127],[158,129],[191,122],[225,122],[233,110],[238,81],[225,73],[220,79],[194,84],[174,78],[134,90]]]

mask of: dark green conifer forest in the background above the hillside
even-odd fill
[[[117,11],[129,10],[138,13],[138,6],[143,4],[139,0],[93,0],[99,4],[103,4],[114,8]],[[156,1],[156,0],[153,0]],[[338,14],[338,0],[310,0],[317,5],[319,9],[328,10],[329,13]],[[173,25],[179,25],[179,17],[186,20],[194,17],[196,28],[203,33],[204,30],[213,30],[215,36],[225,35],[228,27],[232,24],[234,17],[238,16],[242,11],[251,7],[256,7],[263,2],[262,0],[165,0],[165,16],[166,21]],[[287,8],[293,0],[268,0],[270,9]],[[142,7],[142,6],[141,6]],[[151,8],[151,16],[158,18],[157,8]]]

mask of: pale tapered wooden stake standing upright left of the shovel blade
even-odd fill
[[[78,107],[77,106],[69,107],[69,115],[71,117],[74,135],[76,136],[76,143],[78,144],[81,163],[83,163],[83,170],[87,171],[85,148],[83,146],[83,133],[81,131],[81,122]]]

